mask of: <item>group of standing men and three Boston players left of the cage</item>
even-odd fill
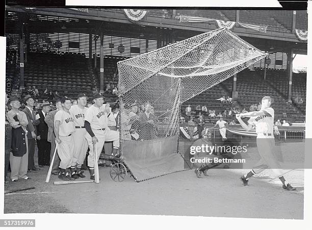
[[[94,149],[99,159],[105,141],[113,141],[113,154],[119,149],[119,132],[108,127],[111,113],[109,104],[103,106],[104,98],[100,93],[93,95],[94,104],[87,108],[87,96],[79,94],[77,105],[71,106],[71,99],[63,97],[56,102],[56,110],[49,112],[50,105],[42,105],[36,115],[33,110],[34,99],[24,97],[26,105],[20,111],[19,98],[10,99],[12,109],[7,113],[6,123],[12,129],[10,153],[11,180],[28,180],[27,171],[36,170],[34,164],[35,143],[38,145],[38,164],[53,164],[52,173],[64,181],[85,177],[81,171],[88,147],[88,166],[90,178],[94,180]],[[47,103],[48,104],[48,103]],[[7,136],[6,132],[6,136]],[[6,140],[6,143],[8,141]],[[57,148],[57,149],[56,149]],[[50,162],[55,154],[54,162]],[[7,155],[6,155],[7,156]],[[9,156],[9,155],[8,155]],[[7,164],[8,160],[6,160]]]

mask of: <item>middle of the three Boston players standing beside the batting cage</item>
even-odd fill
[[[72,134],[74,141],[74,155],[71,162],[70,173],[71,177],[79,178],[86,177],[81,171],[81,166],[84,164],[84,160],[87,155],[88,143],[85,138],[86,129],[85,129],[85,113],[87,111],[87,96],[84,93],[81,93],[77,96],[77,105],[71,106],[69,112],[73,117],[74,126],[76,132]],[[75,166],[77,166],[75,171]]]

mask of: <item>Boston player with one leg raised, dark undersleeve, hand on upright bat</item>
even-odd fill
[[[119,149],[119,132],[108,127],[108,115],[111,112],[109,104],[103,106],[104,98],[100,93],[93,94],[93,101],[94,104],[85,113],[85,137],[90,148],[88,166],[91,180],[94,180],[94,144],[96,143],[97,160],[105,141],[113,141],[113,155],[116,155]]]

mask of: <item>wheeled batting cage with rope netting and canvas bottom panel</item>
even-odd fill
[[[186,170],[181,104],[265,57],[221,28],[118,62],[121,154],[135,180]]]

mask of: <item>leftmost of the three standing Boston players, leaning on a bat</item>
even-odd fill
[[[72,134],[75,132],[75,126],[73,123],[72,115],[69,112],[71,106],[71,99],[68,97],[63,97],[61,99],[63,110],[59,110],[54,117],[54,133],[55,140],[58,143],[58,155],[61,159],[60,162],[60,174],[59,178],[63,181],[74,181],[69,174],[65,175],[65,170],[70,168],[74,142]]]

